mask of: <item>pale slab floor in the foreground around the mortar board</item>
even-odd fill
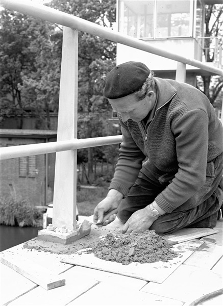
[[[117,224],[116,224],[117,225]],[[1,305],[189,305],[204,294],[222,288],[223,219],[217,234],[202,238],[201,245],[162,284],[61,263],[64,254],[38,252],[23,244],[7,252],[18,253],[47,270],[61,274],[65,286],[45,290],[1,264]],[[112,226],[110,226],[111,228]],[[109,228],[109,227],[108,227]],[[116,227],[114,227],[117,230]],[[107,230],[101,230],[105,235]],[[6,252],[3,251],[2,253]],[[199,305],[222,305],[222,295]]]

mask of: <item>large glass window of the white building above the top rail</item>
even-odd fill
[[[192,36],[192,0],[119,1],[119,31],[124,34],[136,38]]]

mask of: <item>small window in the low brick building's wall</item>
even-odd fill
[[[19,158],[19,176],[36,176],[36,156],[26,156]]]

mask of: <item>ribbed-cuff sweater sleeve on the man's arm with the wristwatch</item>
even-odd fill
[[[194,195],[206,181],[208,151],[208,115],[191,110],[172,127],[176,139],[179,169],[172,182],[157,197],[167,213],[174,211]]]

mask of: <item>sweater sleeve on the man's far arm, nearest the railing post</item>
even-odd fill
[[[116,189],[124,196],[135,183],[142,167],[144,154],[133,140],[128,127],[121,124],[122,143],[120,144],[118,162],[109,189]]]

